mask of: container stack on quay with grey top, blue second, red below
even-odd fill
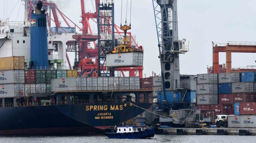
[[[232,84],[240,82],[240,73],[219,73],[218,77],[219,104],[223,104],[223,114],[233,114]]]

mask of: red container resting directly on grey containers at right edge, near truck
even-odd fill
[[[256,115],[256,102],[240,103],[239,115]]]

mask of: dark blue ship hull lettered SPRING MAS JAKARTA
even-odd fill
[[[73,104],[0,108],[0,135],[86,135],[144,112],[125,103]],[[150,103],[134,103],[148,109]],[[10,114],[12,113],[12,114]],[[129,114],[127,114],[129,113]]]

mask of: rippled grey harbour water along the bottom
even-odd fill
[[[155,135],[151,139],[96,136],[0,136],[0,143],[255,143],[256,136]]]

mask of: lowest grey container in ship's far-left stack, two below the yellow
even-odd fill
[[[8,85],[0,85],[0,87],[1,87],[0,98],[14,98],[14,97],[20,98],[21,96],[25,96],[24,84],[8,84]]]

